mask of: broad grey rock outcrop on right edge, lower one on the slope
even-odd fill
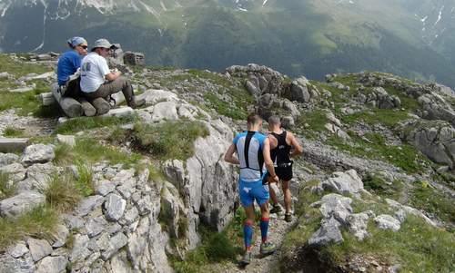
[[[408,122],[401,128],[401,138],[432,161],[455,168],[455,129],[447,122]]]

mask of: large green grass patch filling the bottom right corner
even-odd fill
[[[326,255],[343,263],[353,253],[372,256],[389,265],[399,263],[403,272],[452,272],[455,237],[442,229],[435,229],[413,216],[401,224],[398,232],[369,225],[370,237],[359,241],[348,231],[344,242],[331,245]]]

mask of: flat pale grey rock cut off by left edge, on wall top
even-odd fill
[[[16,217],[45,203],[45,196],[35,191],[21,192],[14,197],[0,201],[2,217]]]

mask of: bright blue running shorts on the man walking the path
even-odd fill
[[[259,206],[262,206],[270,197],[268,185],[263,185],[262,180],[255,182],[240,180],[238,193],[240,194],[240,201],[244,207],[251,206],[255,200]]]

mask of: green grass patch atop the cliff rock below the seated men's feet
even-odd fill
[[[202,122],[137,123],[132,138],[137,149],[151,153],[158,160],[185,161],[194,154],[194,141],[208,134]]]

